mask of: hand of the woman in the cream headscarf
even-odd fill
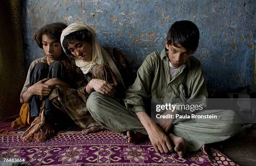
[[[115,88],[112,84],[102,80],[102,79],[92,79],[86,86],[86,92],[91,93],[93,89],[96,92],[100,92],[108,97],[115,96]]]

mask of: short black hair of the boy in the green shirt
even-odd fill
[[[199,30],[193,22],[188,20],[176,21],[169,29],[166,40],[168,45],[181,44],[189,51],[196,51],[199,34]]]

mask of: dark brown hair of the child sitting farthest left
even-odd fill
[[[43,43],[42,43],[42,36],[47,35],[51,40],[59,41],[60,43],[60,37],[62,31],[67,28],[67,25],[64,23],[51,23],[47,24],[43,28],[39,29],[34,34],[34,41],[36,41],[36,44],[42,49]]]

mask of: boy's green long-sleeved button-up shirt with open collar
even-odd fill
[[[146,111],[150,99],[165,101],[191,102],[199,99],[205,102],[208,93],[205,76],[200,61],[190,56],[185,65],[177,70],[171,78],[169,74],[169,58],[166,50],[153,52],[143,61],[137,72],[137,78],[125,93],[125,106],[133,111]],[[206,105],[205,105],[206,106]],[[186,111],[191,114],[192,112]]]

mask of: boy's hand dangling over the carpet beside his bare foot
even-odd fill
[[[152,123],[152,126],[147,130],[147,133],[156,152],[172,152],[173,149],[168,136],[157,124]]]

